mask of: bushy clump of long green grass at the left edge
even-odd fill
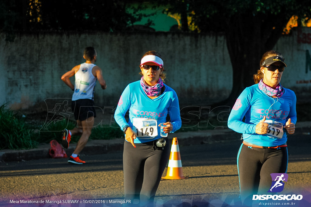
[[[23,117],[0,106],[0,150],[2,149],[31,149],[34,148],[37,134],[30,129]]]

